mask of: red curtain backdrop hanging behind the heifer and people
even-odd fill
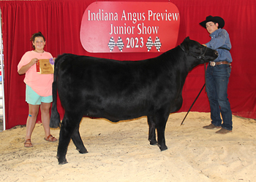
[[[17,65],[22,55],[32,49],[29,41],[32,33],[41,31],[45,35],[45,50],[54,57],[64,52],[118,60],[141,60],[159,55],[159,53],[86,52],[80,44],[80,23],[83,12],[92,2],[94,1],[0,1],[7,129],[18,124],[26,124],[29,106],[25,102],[24,76],[18,75]],[[201,44],[208,42],[210,37],[199,23],[208,15],[224,18],[225,29],[230,34],[233,46],[230,51],[233,63],[228,86],[231,110],[235,115],[256,119],[254,56],[256,1],[170,0],[170,2],[176,4],[181,17],[177,45],[181,44],[186,36]],[[179,111],[188,111],[203,84],[204,66],[202,65],[189,73],[183,90],[184,103]],[[192,111],[210,111],[205,91],[200,94]],[[60,104],[59,112],[63,116],[64,111]]]

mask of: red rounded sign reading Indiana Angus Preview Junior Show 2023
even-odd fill
[[[88,52],[165,52],[176,47],[180,16],[170,2],[97,1],[83,14]]]

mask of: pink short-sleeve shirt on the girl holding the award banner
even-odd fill
[[[31,59],[50,59],[50,52],[38,53],[33,50],[26,52],[18,63],[18,70],[28,64]],[[53,74],[37,74],[37,65],[34,64],[26,71],[24,82],[42,97],[52,95]]]

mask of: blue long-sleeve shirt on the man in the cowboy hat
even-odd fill
[[[230,36],[227,31],[225,29],[219,28],[218,30],[211,33],[210,36],[211,41],[206,43],[206,46],[213,50],[217,50],[217,52],[219,53],[218,58],[214,60],[214,62],[226,60],[227,62],[231,63],[232,57],[230,52],[228,51],[231,49],[231,43]],[[219,47],[224,47],[228,50],[219,49]]]

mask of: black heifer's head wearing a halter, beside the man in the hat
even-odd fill
[[[191,69],[199,64],[213,61],[218,57],[216,50],[205,47],[197,41],[190,40],[189,36],[184,39],[179,47],[188,55],[187,61]]]

